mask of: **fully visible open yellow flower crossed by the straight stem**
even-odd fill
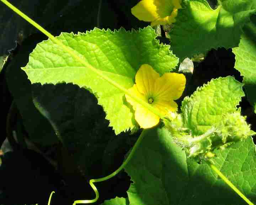
[[[175,112],[178,108],[174,99],[180,98],[185,89],[186,78],[183,74],[165,73],[160,77],[159,73],[148,64],[143,64],[136,76],[133,87],[128,89],[151,106],[157,108],[159,112],[166,115],[168,112]],[[135,120],[140,127],[149,128],[159,123],[159,116],[152,113],[141,104],[126,95],[127,101],[135,110]]]

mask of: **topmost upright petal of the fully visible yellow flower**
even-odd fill
[[[155,72],[149,64],[143,64],[135,75],[138,91],[144,95],[151,95],[154,92],[155,80],[159,77],[159,73]]]

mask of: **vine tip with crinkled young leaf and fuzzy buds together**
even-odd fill
[[[184,125],[182,117],[172,114],[170,122],[164,121],[166,128],[188,156],[201,160],[209,157],[208,154],[212,157],[214,149],[224,149],[255,134],[240,109],[236,110],[242,96],[242,84],[233,77],[211,80],[183,100]]]

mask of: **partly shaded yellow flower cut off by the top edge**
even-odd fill
[[[142,0],[132,7],[132,14],[151,26],[171,24],[176,21],[177,9],[182,0]]]

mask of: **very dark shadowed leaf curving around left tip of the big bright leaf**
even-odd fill
[[[58,138],[49,121],[34,106],[31,82],[27,79],[25,72],[20,69],[21,66],[26,65],[26,57],[34,49],[33,43],[38,43],[38,40],[30,39],[23,42],[15,61],[11,61],[6,68],[6,81],[27,131],[25,135],[33,142],[46,146],[57,143]],[[14,109],[11,112],[15,113],[17,110]]]

